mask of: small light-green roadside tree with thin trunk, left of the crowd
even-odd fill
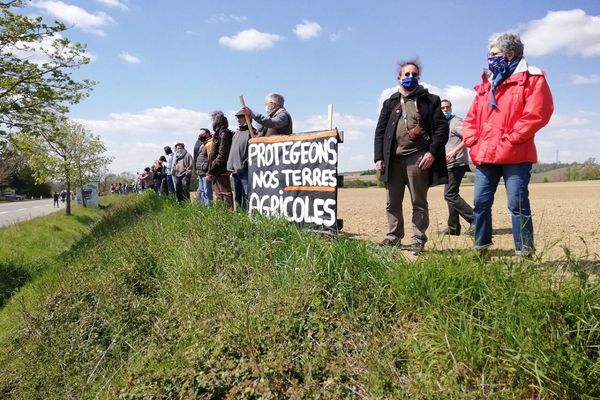
[[[106,147],[83,125],[66,118],[40,130],[35,136],[21,132],[15,146],[26,154],[37,182],[64,183],[67,193],[76,187],[99,180],[99,173],[111,161]],[[85,203],[84,203],[85,205]],[[66,214],[71,215],[71,196],[67,196]]]

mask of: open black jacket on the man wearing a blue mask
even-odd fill
[[[429,145],[428,151],[435,157],[433,165],[429,168],[429,185],[435,186],[448,183],[448,169],[446,167],[446,142],[448,141],[448,121],[440,108],[440,98],[430,94],[427,89],[420,87],[415,93],[419,107],[420,125],[423,135]],[[388,165],[395,157],[396,151],[396,126],[402,116],[402,109],[393,112],[400,102],[400,93],[396,92],[383,103],[377,127],[375,128],[375,162],[383,160],[385,167],[381,173],[381,180],[388,180]]]

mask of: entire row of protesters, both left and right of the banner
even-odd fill
[[[401,247],[405,236],[403,201],[408,190],[412,206],[413,254],[424,251],[429,227],[428,189],[444,184],[448,203],[445,235],[460,235],[460,218],[468,224],[475,248],[492,245],[491,208],[500,178],[508,197],[517,256],[535,248],[529,205],[529,177],[537,161],[534,136],[553,112],[544,73],[529,66],[524,45],[513,33],[498,34],[489,42],[488,70],[476,86],[476,96],[464,120],[452,113],[448,99],[429,93],[419,83],[417,59],[400,63],[399,89],[383,103],[374,136],[375,168],[385,182],[388,230],[381,242]],[[229,129],[222,111],[211,113],[212,132],[199,131],[192,152],[176,143],[139,175],[137,187],[155,190],[177,201],[190,200],[190,182],[198,179],[196,199],[210,206],[222,201],[230,209],[248,208],[248,141],[256,136],[292,134],[292,118],[283,96],[267,95],[267,115],[243,107],[235,114],[237,128]],[[252,121],[258,127],[252,126]],[[474,206],[459,194],[461,181],[475,165]]]

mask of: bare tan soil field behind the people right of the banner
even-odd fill
[[[502,184],[502,183],[501,183]],[[538,254],[554,260],[565,256],[565,249],[586,259],[600,259],[600,181],[557,182],[530,184],[533,211],[534,238]],[[473,186],[461,187],[461,195],[473,204]],[[429,199],[430,225],[427,231],[427,249],[466,249],[473,246],[472,238],[443,236],[448,208],[444,201],[443,186],[431,188]],[[344,220],[342,232],[373,242],[386,234],[386,192],[383,188],[344,189],[338,191],[338,218]],[[410,244],[412,235],[410,195],[404,198],[406,236],[402,243]],[[496,253],[513,254],[510,214],[506,208],[506,192],[498,187],[492,211]],[[463,224],[463,231],[467,224]]]

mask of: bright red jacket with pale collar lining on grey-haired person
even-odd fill
[[[473,164],[537,162],[533,138],[554,111],[544,73],[521,59],[496,89],[497,108],[489,106],[492,85],[486,72],[482,79],[462,127]]]

